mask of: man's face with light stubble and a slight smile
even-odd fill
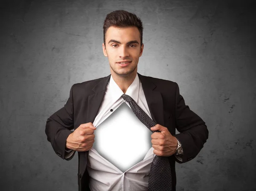
[[[106,32],[105,40],[106,46],[102,43],[102,48],[104,55],[108,57],[111,75],[130,76],[137,73],[137,65],[144,46],[140,46],[140,32],[137,27],[111,26]],[[131,62],[119,64],[121,61]]]

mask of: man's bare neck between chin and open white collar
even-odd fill
[[[128,87],[132,84],[132,82],[136,78],[137,71],[134,71],[128,75],[118,75],[115,72],[111,71],[111,75],[113,80],[116,82],[119,88],[123,91],[123,93],[126,93]]]

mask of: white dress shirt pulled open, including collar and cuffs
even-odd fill
[[[136,103],[143,109],[143,111],[145,111],[145,113],[152,119],[138,74],[136,75],[132,84],[128,87],[125,94],[131,96],[131,98],[133,98],[134,101],[136,101]],[[122,90],[119,88],[119,86],[116,84],[116,82],[113,80],[111,76],[110,81],[108,82],[106,87],[106,92],[105,92],[105,96],[103,98],[101,107],[99,108],[99,112],[93,122],[94,127],[98,127],[99,124],[104,122],[105,119],[107,119],[112,113],[114,113],[114,111],[123,103],[127,104],[128,107],[130,107],[129,103],[126,102],[121,97],[122,95],[123,95]],[[129,123],[129,120],[127,120],[127,115],[122,114],[122,110],[120,110],[120,113],[121,114],[118,116],[118,119],[121,117],[122,121]],[[147,134],[147,136],[149,136],[151,141],[150,135],[152,132],[148,129],[146,130],[147,130],[146,132],[149,133]],[[96,134],[96,131],[97,129],[94,131],[95,134]],[[96,140],[96,136],[95,136],[95,140]],[[143,143],[145,143],[145,139],[143,139]],[[117,143],[117,144],[120,144],[120,143]],[[139,162],[137,162],[135,165],[130,163],[128,164],[128,166],[127,166],[127,162],[126,164],[125,163],[117,164],[117,163],[114,163],[113,161],[111,163],[106,159],[108,157],[104,158],[97,152],[96,149],[92,147],[89,150],[88,162],[87,162],[87,171],[90,178],[90,181],[89,181],[90,190],[91,191],[147,191],[149,171],[151,167],[151,162],[155,154],[153,153],[154,148],[151,147],[152,145],[151,142],[146,142],[146,144],[147,144],[146,148],[149,148],[149,150],[146,153],[141,153],[142,155],[140,155],[140,157],[139,156],[137,157],[139,159]],[[74,151],[68,153],[65,156],[65,158],[69,158],[73,154],[73,152]],[[141,156],[143,156],[143,154],[145,154],[145,157],[142,160]],[[175,157],[180,161],[182,161],[182,159],[179,156],[175,155]],[[116,165],[114,165],[113,163]],[[129,165],[131,166],[131,168]],[[124,167],[124,168],[121,168],[121,167]]]

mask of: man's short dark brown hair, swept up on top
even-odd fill
[[[116,10],[109,14],[107,14],[104,25],[103,25],[103,33],[104,33],[104,45],[106,46],[105,35],[109,27],[116,26],[125,28],[128,26],[136,26],[140,32],[140,46],[142,45],[142,36],[143,36],[143,24],[139,17],[136,14],[124,11],[124,10]]]

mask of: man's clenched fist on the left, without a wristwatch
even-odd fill
[[[90,123],[81,124],[67,137],[66,148],[76,151],[87,151],[93,146],[96,127]]]

